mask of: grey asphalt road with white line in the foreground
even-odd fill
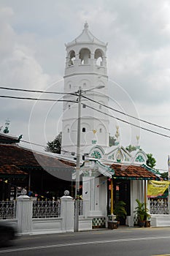
[[[1,255],[170,255],[170,227],[119,227],[117,230],[22,236],[12,246],[0,248]]]

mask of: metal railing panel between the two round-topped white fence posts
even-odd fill
[[[33,218],[57,218],[61,216],[61,203],[58,201],[34,201]]]

